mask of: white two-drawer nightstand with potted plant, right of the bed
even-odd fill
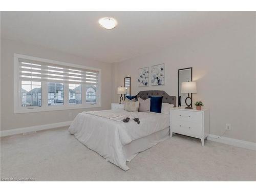
[[[184,109],[184,107],[170,110],[170,136],[173,133],[204,139],[209,135],[209,110]]]

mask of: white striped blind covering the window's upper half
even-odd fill
[[[19,79],[73,84],[98,84],[99,71],[19,58]]]

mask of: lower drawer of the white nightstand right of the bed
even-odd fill
[[[201,136],[203,132],[202,123],[188,122],[188,121],[174,121],[172,122],[172,132],[188,135],[193,134]]]

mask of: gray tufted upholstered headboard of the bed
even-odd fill
[[[176,106],[176,96],[170,96],[165,91],[157,91],[157,90],[150,90],[150,91],[140,91],[137,95],[137,99],[140,97],[141,99],[145,100],[148,96],[152,97],[161,97],[163,96],[163,103],[170,103]]]

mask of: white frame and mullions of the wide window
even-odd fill
[[[19,58],[36,60],[41,62],[49,62],[56,65],[63,65],[68,67],[75,67],[81,69],[88,69],[99,71],[98,84],[96,85],[96,104],[86,103],[86,85],[81,84],[81,104],[69,104],[69,83],[63,83],[63,105],[48,105],[48,87],[47,82],[41,81],[41,106],[22,106],[22,92],[21,81],[19,80]],[[79,84],[79,83],[78,83]],[[83,98],[84,97],[84,98]],[[58,111],[58,110],[72,110],[72,109],[88,109],[101,107],[101,69],[77,65],[68,62],[56,61],[51,59],[44,59],[28,55],[13,54],[13,112],[16,113],[32,113],[44,111]]]

